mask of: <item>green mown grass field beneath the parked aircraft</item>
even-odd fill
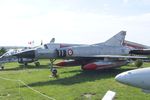
[[[21,80],[28,86],[56,100],[101,100],[108,90],[116,92],[115,100],[150,100],[150,94],[140,89],[120,84],[114,77],[131,66],[103,71],[82,71],[79,66],[58,68],[59,78],[49,78],[48,60],[41,60],[41,66],[28,67],[18,63],[5,64],[0,77]],[[144,66],[150,66],[145,63]],[[20,82],[0,79],[0,100],[49,100],[27,88]]]

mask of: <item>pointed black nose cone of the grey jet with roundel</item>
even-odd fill
[[[20,58],[35,58],[35,51],[36,50],[25,50],[14,54],[14,56]]]

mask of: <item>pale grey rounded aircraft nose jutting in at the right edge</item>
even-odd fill
[[[140,68],[118,74],[115,79],[123,84],[141,88],[150,93],[150,68]]]

